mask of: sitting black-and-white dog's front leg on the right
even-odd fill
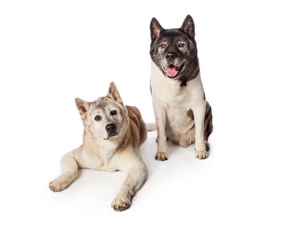
[[[191,108],[194,113],[195,119],[195,147],[196,154],[195,156],[199,159],[206,159],[206,145],[204,142],[204,119],[205,119],[205,109],[206,109],[206,101],[202,104],[197,104],[193,108]]]

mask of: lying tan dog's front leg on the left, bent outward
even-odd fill
[[[49,188],[54,192],[64,190],[72,183],[77,175],[77,163],[71,153],[65,154],[61,159],[62,174],[56,179],[52,180]]]

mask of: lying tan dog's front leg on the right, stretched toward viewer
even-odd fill
[[[115,211],[123,211],[130,206],[131,198],[142,188],[148,177],[147,166],[144,162],[140,164],[139,160],[132,163],[135,166],[128,170],[120,191],[112,202],[112,208]],[[126,168],[119,168],[119,170],[126,171]]]

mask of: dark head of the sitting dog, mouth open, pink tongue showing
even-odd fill
[[[182,79],[198,69],[195,23],[190,15],[186,16],[182,26],[177,29],[163,29],[153,17],[150,35],[151,59],[165,77]]]

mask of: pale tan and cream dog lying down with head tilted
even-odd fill
[[[114,82],[106,96],[93,102],[75,98],[75,103],[84,125],[83,144],[62,157],[62,174],[49,187],[54,192],[64,190],[76,177],[78,168],[121,170],[127,176],[112,208],[123,211],[147,179],[148,168],[139,146],[148,131],[156,130],[156,125],[145,124],[138,108],[123,104]]]

